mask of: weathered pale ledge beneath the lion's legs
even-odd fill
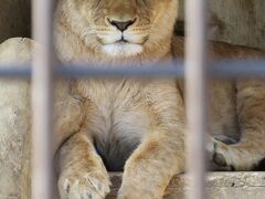
[[[121,174],[112,172],[112,191],[107,199],[115,199],[121,184]],[[165,199],[182,199],[186,175],[176,176],[168,186]],[[265,172],[210,172],[206,177],[210,198],[213,199],[264,199]]]

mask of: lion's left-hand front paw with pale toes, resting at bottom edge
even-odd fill
[[[75,172],[59,179],[61,199],[103,199],[109,186],[108,176],[100,172]]]

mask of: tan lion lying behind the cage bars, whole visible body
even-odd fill
[[[57,56],[64,63],[109,67],[181,59],[183,39],[173,38],[177,13],[178,0],[59,0]],[[263,55],[221,43],[211,49],[214,59]],[[241,137],[235,145],[213,139],[213,160],[222,167],[251,169],[265,156],[264,82],[214,81],[210,88],[210,132],[224,142]],[[82,97],[80,112],[85,116],[74,134],[55,130],[61,140],[56,153],[61,198],[105,198],[110,185],[107,169],[124,170],[119,199],[162,198],[171,177],[184,171],[183,83],[76,80],[71,90]]]

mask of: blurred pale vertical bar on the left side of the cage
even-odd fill
[[[32,0],[33,36],[40,51],[33,59],[32,199],[53,198],[53,1]]]

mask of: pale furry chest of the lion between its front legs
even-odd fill
[[[109,170],[123,166],[150,129],[141,87],[127,81],[91,82],[85,95],[87,132]]]

